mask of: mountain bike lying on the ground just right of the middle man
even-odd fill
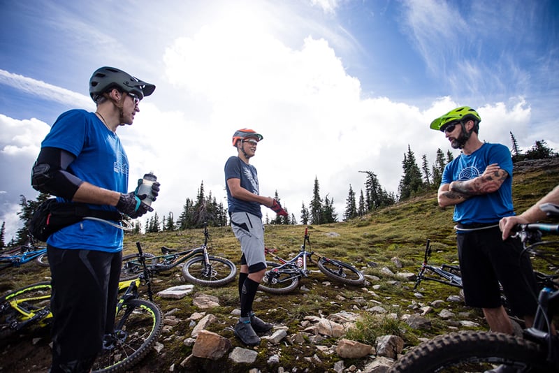
[[[352,265],[335,259],[326,258],[326,256],[322,256],[315,251],[308,251],[307,245],[310,247],[309,237],[309,228],[307,227],[305,228],[305,238],[299,253],[289,261],[280,258],[268,250],[268,254],[279,263],[266,261],[266,265],[272,269],[266,271],[259,285],[259,289],[273,294],[286,294],[293,291],[299,284],[299,280],[302,277],[308,277],[311,273],[311,271],[307,269],[307,259],[317,263],[319,270],[324,273],[326,277],[335,281],[340,281],[343,284],[363,284],[363,281],[365,281],[363,273]],[[312,256],[316,256],[316,258],[311,259]]]

